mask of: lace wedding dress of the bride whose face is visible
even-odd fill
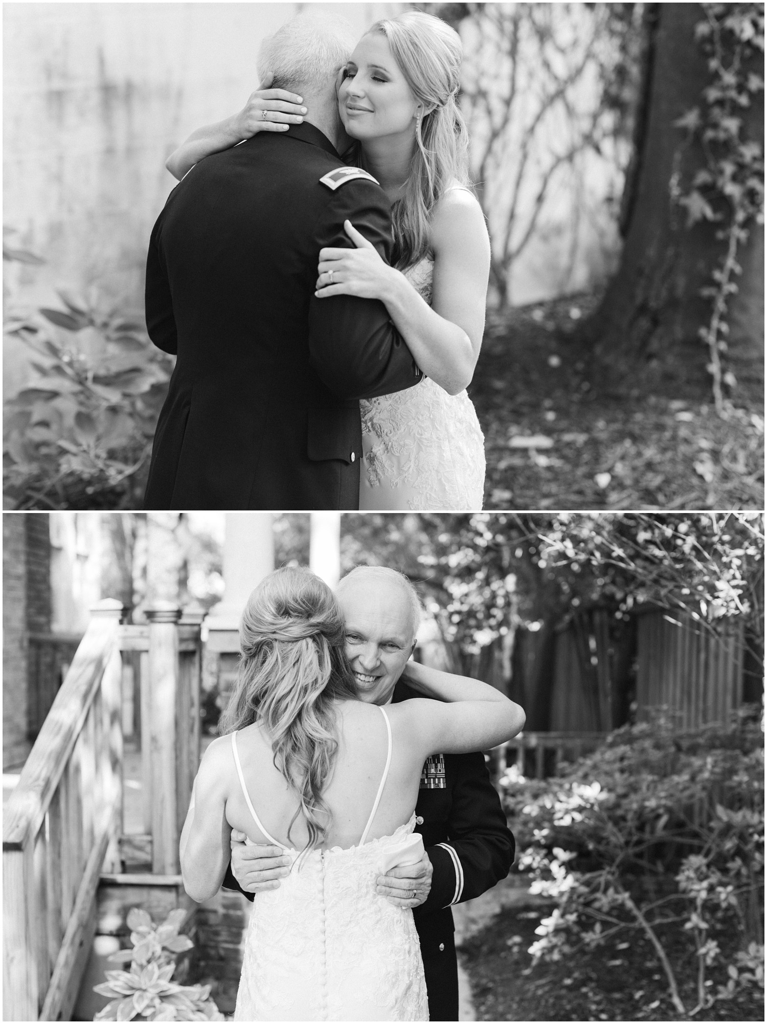
[[[404,271],[431,304],[434,261]],[[364,511],[453,512],[482,507],[484,438],[466,391],[450,395],[424,378],[416,387],[359,402]]]

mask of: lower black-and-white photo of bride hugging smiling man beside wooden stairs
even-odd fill
[[[763,1020],[760,513],[3,516],[5,1020]]]

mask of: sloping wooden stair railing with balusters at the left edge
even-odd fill
[[[119,601],[100,601],[3,814],[3,1017],[68,1020],[119,866]],[[113,869],[114,869],[113,867]]]

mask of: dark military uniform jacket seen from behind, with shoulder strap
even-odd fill
[[[383,303],[314,297],[319,250],[353,247],[347,218],[388,261],[383,189],[310,124],[207,157],[170,194],[145,308],[177,360],[147,509],[358,507],[358,399],[422,375]]]

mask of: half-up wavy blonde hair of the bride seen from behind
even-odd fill
[[[270,572],[243,612],[237,685],[221,717],[222,733],[254,722],[268,732],[274,767],[299,798],[288,840],[303,814],[305,852],[323,841],[331,820],[323,786],[338,751],[334,701],[357,696],[344,639],[327,584],[308,569]]]

